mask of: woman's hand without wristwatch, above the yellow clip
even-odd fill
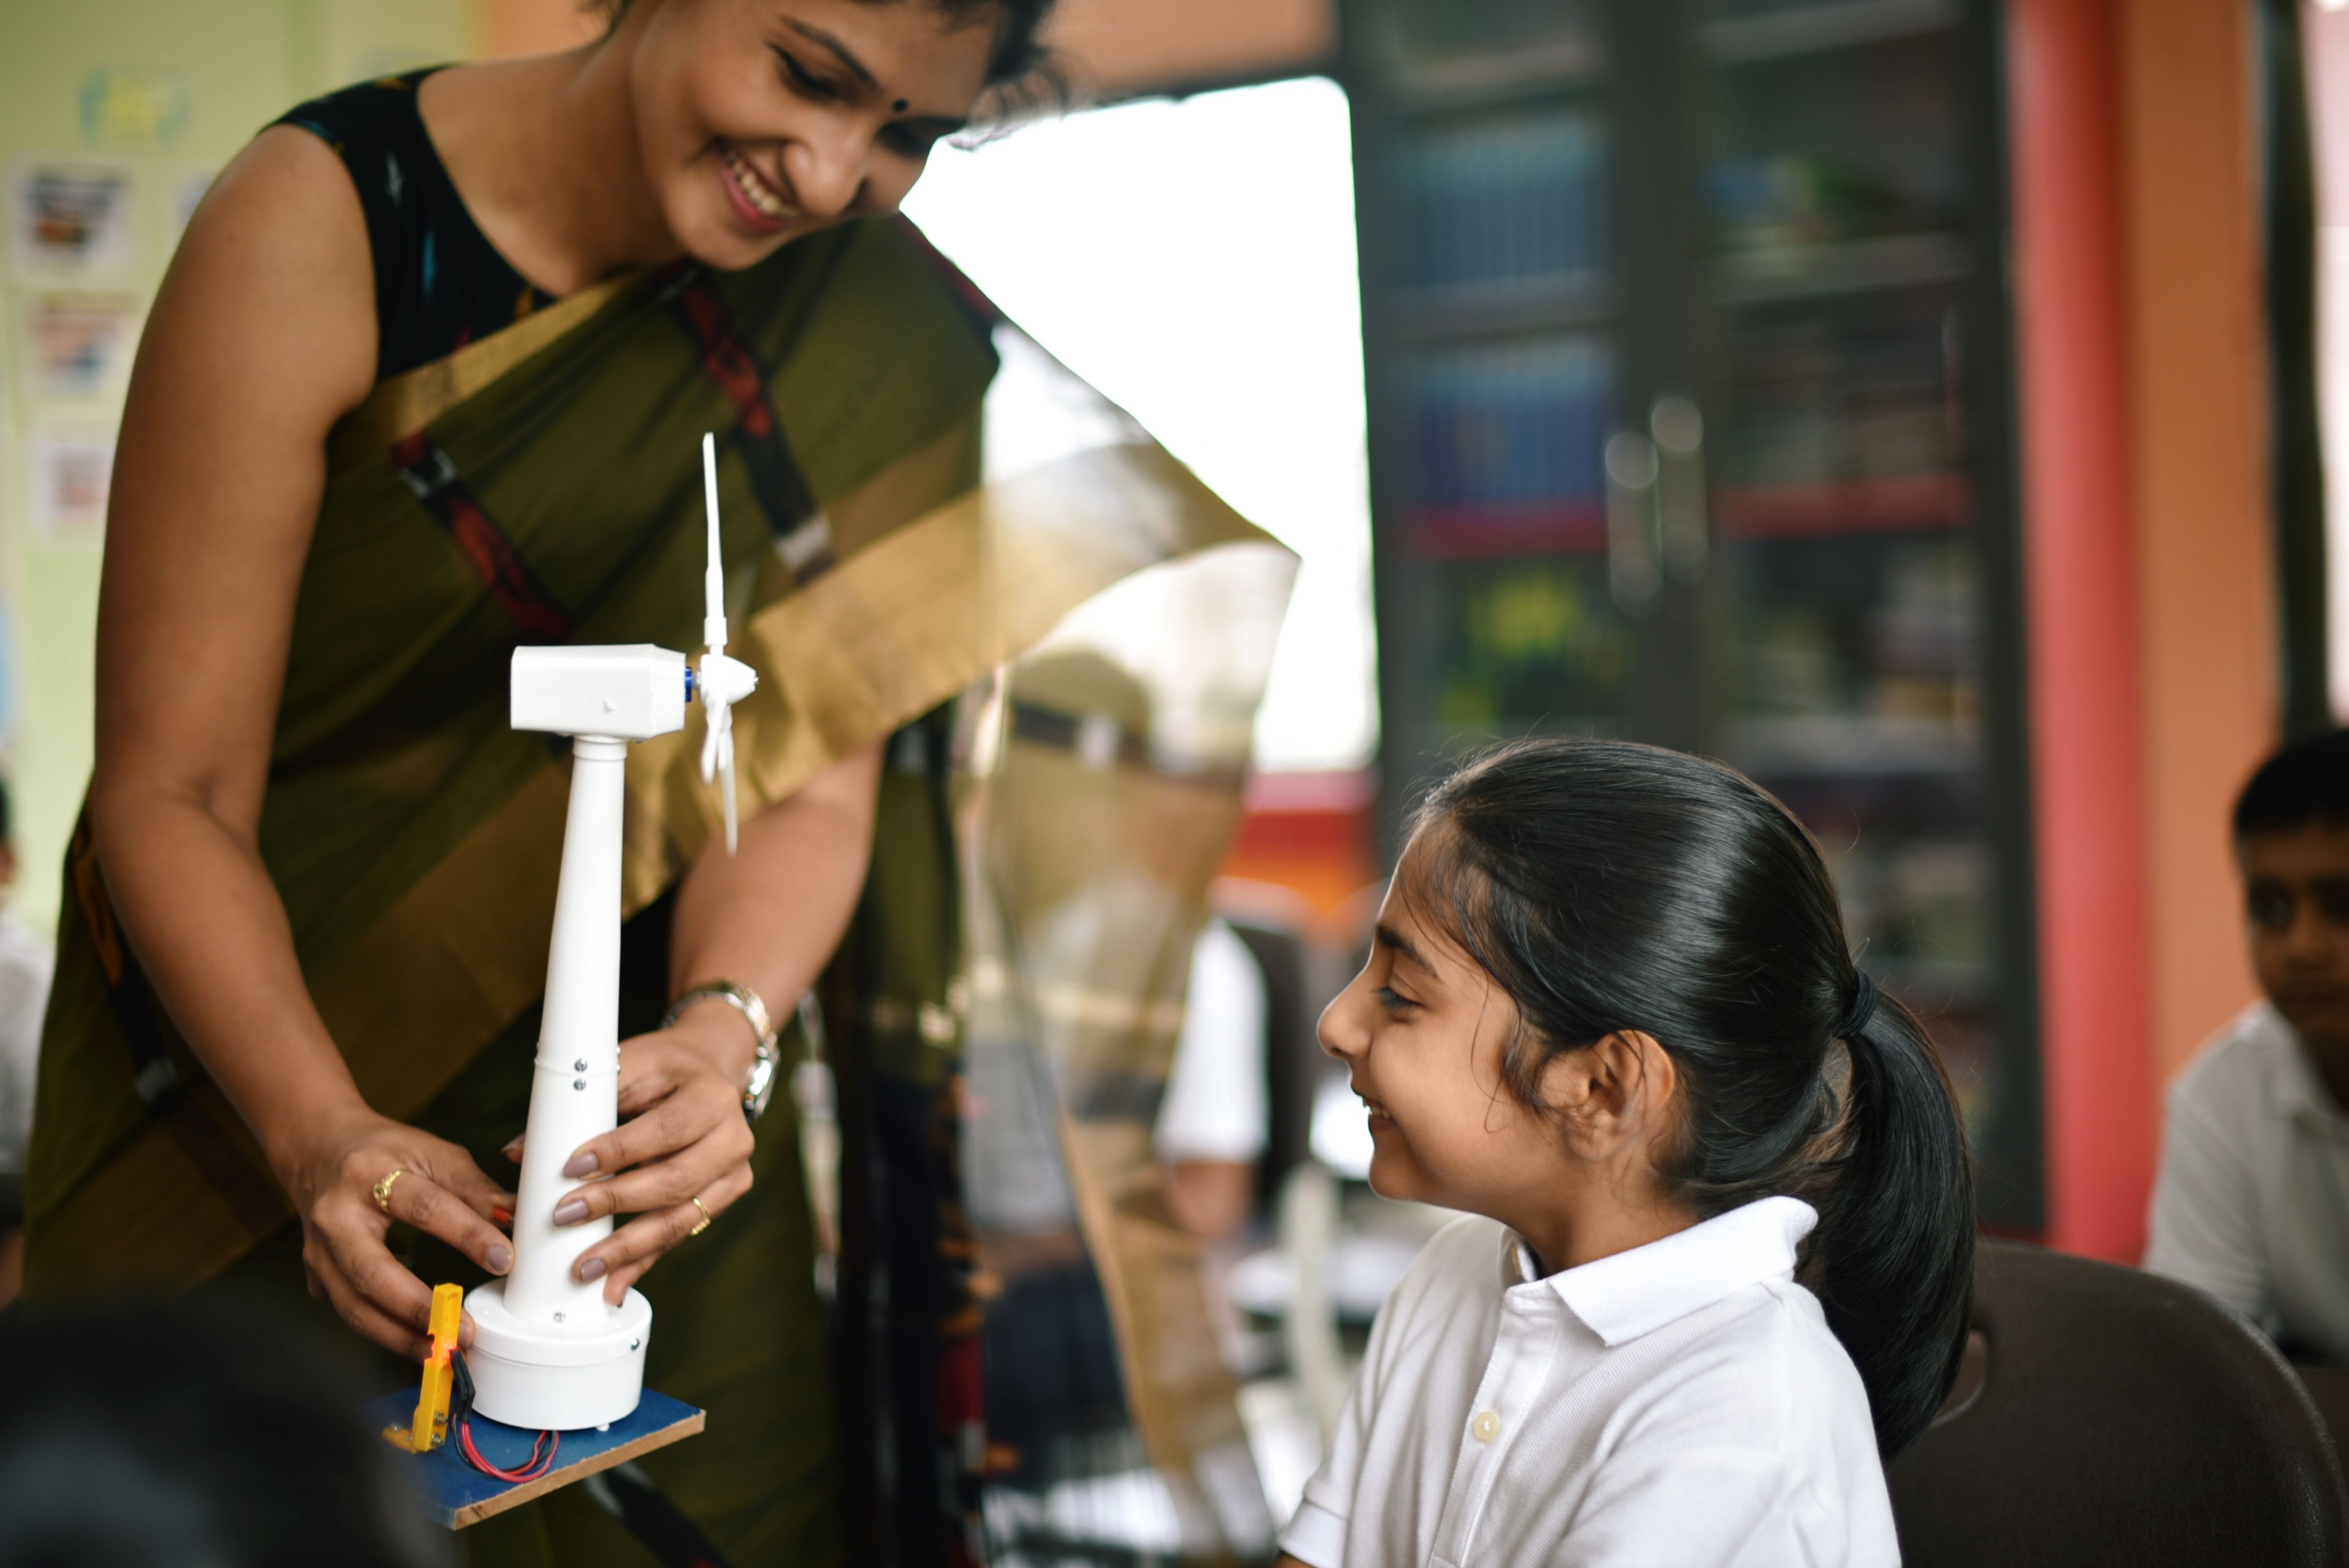
[[[385,1213],[376,1182],[392,1171],[404,1175],[392,1182]],[[425,1335],[432,1291],[383,1244],[392,1220],[446,1241],[491,1274],[514,1267],[512,1244],[491,1222],[512,1213],[514,1197],[500,1192],[465,1150],[390,1117],[369,1112],[329,1126],[280,1161],[277,1180],[301,1218],[310,1295],[402,1356],[423,1361],[432,1349]],[[470,1316],[458,1338],[472,1342]]]

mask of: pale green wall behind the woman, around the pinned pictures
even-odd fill
[[[129,296],[146,308],[169,259],[174,195],[228,162],[303,96],[338,82],[474,52],[472,0],[0,0],[0,179],[26,160],[132,172],[136,244],[106,280],[35,282],[0,259],[0,599],[12,621],[16,724],[5,771],[23,863],[16,912],[56,919],[59,867],[89,778],[96,543],[33,538],[26,435],[110,428],[120,395],[42,400],[31,386],[28,310],[49,292]],[[103,68],[164,71],[183,125],[157,139],[94,139],[82,94]],[[0,228],[16,223],[9,197]]]

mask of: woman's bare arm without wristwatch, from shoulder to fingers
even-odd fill
[[[303,985],[256,827],[324,487],[327,430],[376,371],[359,197],[308,132],[263,132],[188,226],[122,418],[103,588],[92,830],[174,1023],[254,1128],[308,1232],[312,1286],[413,1349],[430,1293],[397,1218],[503,1272],[498,1192],[453,1145],[376,1117]]]

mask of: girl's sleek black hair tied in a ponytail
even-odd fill
[[[1402,896],[1517,1004],[1510,1091],[1539,1105],[1553,1058],[1651,1034],[1684,1086],[1658,1175],[1705,1218],[1818,1208],[1802,1279],[1900,1453],[1966,1345],[1973,1168],[1931,1039],[1851,964],[1811,835],[1741,773],[1623,741],[1494,748],[1412,825]]]

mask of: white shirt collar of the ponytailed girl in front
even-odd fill
[[[1663,1241],[1600,1258],[1539,1281],[1557,1293],[1609,1347],[1764,1279],[1795,1279],[1795,1246],[1818,1225],[1818,1211],[1792,1197],[1766,1197]],[[1532,1253],[1510,1232],[1501,1255],[1503,1284],[1532,1279]]]

